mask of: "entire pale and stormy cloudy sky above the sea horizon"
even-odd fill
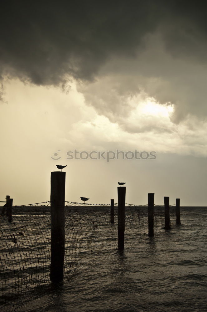
[[[116,202],[121,181],[129,203],[206,206],[206,16],[204,1],[3,2],[1,200],[49,200],[67,164],[69,201]]]

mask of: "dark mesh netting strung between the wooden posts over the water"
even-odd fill
[[[44,204],[44,205],[43,205]],[[125,208],[125,248],[147,235],[147,205]],[[175,220],[175,207],[170,209]],[[164,225],[164,207],[155,206],[155,228]],[[0,217],[1,311],[12,312],[51,289],[50,202],[13,207],[12,222]],[[65,202],[64,280],[106,261],[117,251],[117,204]]]

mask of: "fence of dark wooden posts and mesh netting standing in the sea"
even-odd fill
[[[51,172],[51,202],[36,203],[36,207],[34,204],[15,206],[12,216],[12,198],[7,196],[4,210],[7,208],[8,220],[2,209],[4,232],[1,231],[0,237],[0,244],[4,246],[1,261],[6,270],[2,282],[5,298],[11,297],[7,294],[8,289],[14,300],[18,300],[15,298],[18,298],[19,289],[23,294],[28,290],[28,296],[36,298],[40,293],[30,291],[33,280],[36,283],[39,279],[40,285],[48,285],[50,281],[57,283],[64,275],[70,278],[102,263],[117,247],[122,251],[134,246],[135,241],[145,236],[147,220],[148,236],[151,237],[154,236],[154,222],[160,226],[165,220],[165,229],[170,230],[170,216],[176,216],[176,224],[180,224],[180,199],[176,198],[176,207],[170,210],[169,197],[164,197],[163,207],[154,205],[154,195],[148,193],[147,205],[128,205],[125,203],[126,187],[118,187],[118,204],[114,204],[113,199],[110,204],[94,206],[65,202],[65,172],[55,171]],[[39,263],[39,259],[44,259],[44,264]],[[32,268],[31,263],[34,263]],[[13,267],[19,267],[21,274]],[[19,288],[13,288],[10,275]],[[9,287],[6,283],[10,283]],[[9,309],[4,311],[13,311],[15,305],[10,301],[5,299]]]

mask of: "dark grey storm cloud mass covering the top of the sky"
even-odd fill
[[[63,87],[88,80],[86,100],[112,121],[140,90],[177,105],[175,121],[207,115],[206,12],[203,0],[5,1],[0,75]]]

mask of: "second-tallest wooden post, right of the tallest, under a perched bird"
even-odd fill
[[[118,249],[124,249],[126,187],[118,187]]]

